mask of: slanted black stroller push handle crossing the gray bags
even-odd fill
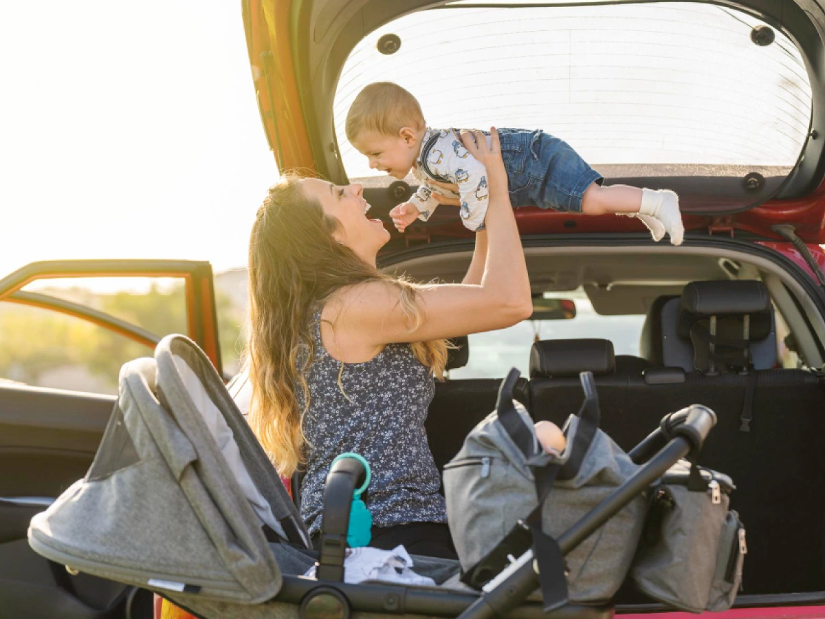
[[[669,420],[672,424],[668,425],[665,420]],[[672,465],[676,464],[676,461],[701,447],[715,424],[716,414],[698,404],[669,414],[662,419],[662,427],[639,443],[639,446],[630,453],[630,456],[634,457],[634,451],[642,448],[636,456],[644,456],[643,459],[647,462],[625,480],[624,484],[587,512],[573,527],[559,536],[559,549],[562,555],[567,555],[593,532],[596,532],[610,517],[619,513],[625,505],[664,475]],[[663,429],[666,426],[668,430]],[[665,432],[668,432],[669,436]],[[658,445],[662,445],[661,449],[656,447]],[[648,455],[651,456],[649,459]],[[634,462],[636,461],[634,458]],[[493,579],[488,587],[485,587],[482,597],[462,612],[457,619],[504,617],[508,611],[533,593],[539,586],[539,577],[535,561],[532,560],[532,553],[532,550],[527,550],[525,555]]]

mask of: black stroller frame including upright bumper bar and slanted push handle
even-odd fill
[[[592,374],[582,372],[585,397],[597,405],[597,395]],[[620,512],[631,500],[644,492],[681,458],[691,451],[699,451],[709,431],[716,424],[716,414],[699,404],[691,405],[662,418],[660,427],[629,452],[631,460],[642,465],[634,475],[625,480],[606,499],[584,514],[568,531],[559,536],[559,548],[567,555],[582,541]],[[568,603],[551,612],[544,612],[542,602],[530,602],[526,598],[539,587],[538,567],[533,551],[527,550],[514,560],[501,574],[490,581],[479,596],[444,588],[407,587],[397,584],[347,584],[343,577],[343,549],[346,547],[349,520],[349,498],[363,479],[363,467],[356,461],[344,461],[333,467],[327,478],[324,495],[324,522],[322,550],[319,555],[318,574],[327,578],[317,580],[298,576],[283,576],[283,586],[276,598],[278,602],[300,605],[301,617],[314,617],[305,612],[317,596],[333,596],[340,612],[330,617],[348,619],[352,612],[370,612],[387,615],[420,615],[430,617],[456,617],[457,619],[493,619],[493,617],[519,617],[519,619],[606,619],[613,609],[610,606],[592,606]],[[342,499],[346,498],[346,499]],[[330,543],[334,541],[334,543]],[[327,543],[324,543],[327,542]],[[326,564],[326,565],[324,565]],[[180,602],[174,602],[180,606]],[[187,612],[191,612],[188,611]],[[191,612],[199,617],[195,612]],[[326,616],[325,616],[326,617]],[[204,617],[203,619],[210,619]]]

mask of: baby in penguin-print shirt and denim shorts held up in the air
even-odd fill
[[[670,234],[679,245],[684,235],[679,198],[673,191],[627,185],[602,187],[601,175],[563,140],[541,130],[499,129],[502,159],[512,206],[540,206],[584,215],[627,215],[642,220],[659,241]],[[484,228],[487,171],[467,152],[455,130],[427,126],[415,97],[389,82],[365,87],[347,114],[347,138],[370,159],[370,168],[406,177],[410,169],[421,186],[389,215],[403,232],[418,218],[426,221],[439,202],[433,193],[459,197],[460,216],[471,230]],[[458,194],[432,181],[458,185]]]

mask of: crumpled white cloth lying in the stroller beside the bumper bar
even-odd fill
[[[344,559],[344,582],[356,584],[365,580],[383,580],[422,587],[435,586],[435,580],[419,576],[410,569],[412,567],[413,559],[403,546],[395,546],[393,550],[380,550],[370,546],[350,548]],[[304,576],[314,579],[315,566],[309,568]]]

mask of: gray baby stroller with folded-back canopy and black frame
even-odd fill
[[[668,416],[629,454],[645,464],[559,536],[562,554],[700,448],[715,421],[701,406]],[[532,550],[483,591],[461,584],[458,561],[418,556],[413,569],[435,587],[344,583],[351,500],[364,475],[356,460],[333,465],[320,552],[311,550],[294,503],[208,358],[191,340],[167,336],[153,359],[123,366],[92,467],[32,519],[29,543],[71,573],[152,590],[203,619],[544,616]],[[317,579],[302,577],[313,565]],[[568,603],[547,614],[612,612]]]

